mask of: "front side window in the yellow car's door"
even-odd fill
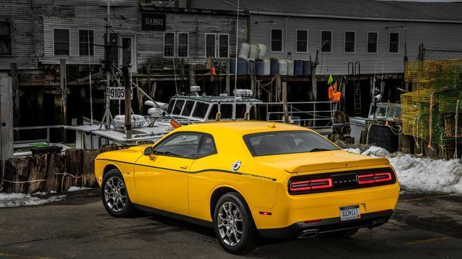
[[[197,133],[179,133],[165,139],[154,147],[154,153],[171,157],[194,158],[201,135]]]

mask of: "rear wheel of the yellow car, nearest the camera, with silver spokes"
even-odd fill
[[[213,228],[220,245],[228,253],[248,253],[255,248],[255,224],[240,194],[227,193],[218,199]]]

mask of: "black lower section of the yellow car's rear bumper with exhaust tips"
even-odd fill
[[[364,213],[361,218],[341,221],[340,218],[325,218],[319,222],[297,222],[284,228],[259,229],[265,238],[312,238],[321,233],[342,231],[354,228],[374,228],[389,220],[392,210]]]

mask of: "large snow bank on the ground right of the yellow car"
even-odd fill
[[[359,154],[359,149],[345,149]],[[370,147],[362,152],[370,157],[386,157],[398,174],[404,189],[462,194],[462,164],[458,159],[444,160],[393,153],[381,147]]]

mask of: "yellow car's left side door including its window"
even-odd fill
[[[135,163],[135,185],[139,203],[189,215],[188,171],[193,164],[200,134],[178,132],[154,147],[153,156]]]

